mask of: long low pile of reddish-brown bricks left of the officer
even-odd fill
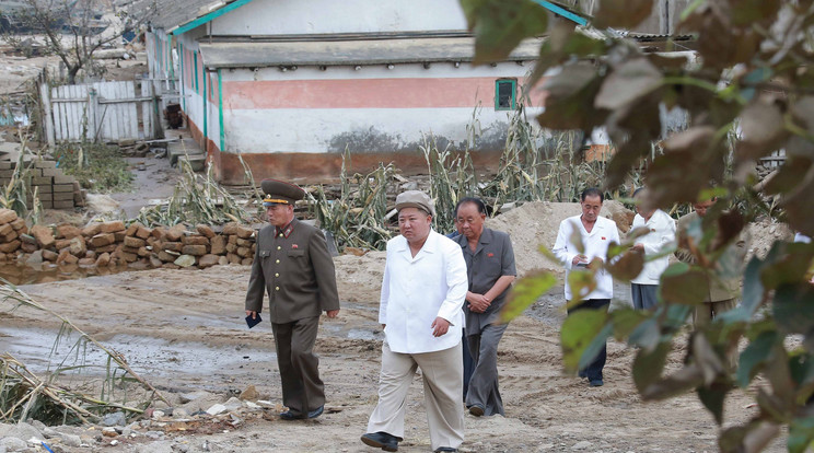
[[[216,231],[220,230],[220,231]],[[222,229],[183,224],[126,226],[121,221],[77,228],[67,223],[31,229],[14,211],[0,209],[0,260],[27,263],[38,254],[43,263],[133,269],[207,268],[214,265],[251,265],[255,236],[252,228],[229,223]],[[39,259],[36,259],[38,262]]]

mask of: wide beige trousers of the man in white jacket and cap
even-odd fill
[[[464,441],[463,360],[461,344],[434,352],[398,353],[391,351],[384,341],[379,404],[370,415],[368,432],[384,431],[404,438],[405,400],[412,376],[421,368],[432,450],[441,446],[457,449]]]

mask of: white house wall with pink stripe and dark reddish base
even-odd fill
[[[359,169],[395,161],[406,171],[423,170],[421,146],[464,150],[473,124],[480,135],[475,150],[499,154],[512,112],[496,109],[496,81],[515,79],[520,96],[527,70],[515,62],[222,70],[221,177],[243,182],[242,165],[229,163],[239,153],[255,178],[336,176],[346,149]],[[528,108],[530,115],[538,111]]]

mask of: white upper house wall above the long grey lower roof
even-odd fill
[[[212,22],[214,35],[466,30],[458,0],[253,0]]]

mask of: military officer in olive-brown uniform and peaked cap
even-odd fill
[[[334,262],[323,233],[294,219],[294,202],[305,191],[277,179],[264,179],[260,187],[269,224],[257,234],[246,315],[254,318],[260,313],[267,292],[282,402],[288,407],[280,418],[315,418],[325,405],[319,360],[313,352],[319,315],[339,314]]]

